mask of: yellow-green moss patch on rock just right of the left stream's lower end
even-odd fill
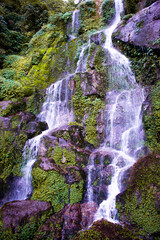
[[[37,167],[33,169],[32,176],[34,191],[31,199],[50,202],[55,212],[69,203],[69,185],[58,172],[45,172]]]

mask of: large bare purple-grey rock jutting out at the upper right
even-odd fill
[[[115,38],[136,46],[160,49],[160,1],[144,8],[115,32]]]

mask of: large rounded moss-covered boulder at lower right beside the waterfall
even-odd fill
[[[150,154],[133,167],[127,190],[120,196],[119,213],[145,235],[160,231],[159,155]]]

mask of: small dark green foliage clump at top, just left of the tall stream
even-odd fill
[[[102,3],[103,24],[109,24],[114,16],[114,1],[104,0]]]

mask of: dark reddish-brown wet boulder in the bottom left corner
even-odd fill
[[[38,217],[42,212],[49,209],[49,203],[34,200],[6,203],[1,208],[4,228],[9,227],[12,231],[17,231],[18,225],[25,225],[32,216]]]

